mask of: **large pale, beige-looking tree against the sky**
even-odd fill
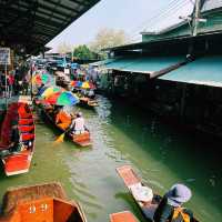
[[[129,42],[130,40],[123,30],[101,29],[91,43],[90,49],[104,57],[105,53],[101,52],[102,49],[118,47]]]

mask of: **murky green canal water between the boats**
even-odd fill
[[[0,198],[8,186],[60,181],[69,198],[83,206],[89,222],[108,222],[109,214],[130,210],[144,221],[115,168],[130,164],[157,192],[176,182],[188,184],[193,198],[186,204],[201,222],[222,219],[221,142],[196,138],[169,127],[140,108],[99,98],[100,105],[83,112],[92,133],[91,149],[65,140],[58,131],[37,124],[36,153],[30,172],[7,178],[0,169]]]

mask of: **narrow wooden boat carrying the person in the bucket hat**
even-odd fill
[[[137,185],[142,185],[143,188],[149,188],[149,186],[145,186],[142,183],[141,179],[135,174],[135,172],[130,165],[123,165],[123,167],[117,168],[117,172],[120,175],[120,178],[122,178],[125,186],[128,188],[135,203],[139,205],[139,208],[143,212],[143,215],[145,216],[145,219],[149,221],[153,221],[154,212],[160,201],[162,200],[162,196],[154,193],[151,201],[138,200],[137,196],[133,195],[132,188]],[[194,222],[198,222],[198,220],[194,219]]]

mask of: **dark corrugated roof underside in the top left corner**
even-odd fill
[[[0,41],[43,47],[100,0],[1,0]]]

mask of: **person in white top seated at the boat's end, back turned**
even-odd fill
[[[70,132],[72,134],[81,134],[85,132],[85,127],[84,127],[84,118],[82,117],[81,112],[78,112],[75,114],[77,118],[72,120],[72,123],[70,125]]]

